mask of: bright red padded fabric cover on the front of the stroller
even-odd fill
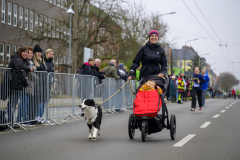
[[[133,111],[137,117],[155,117],[162,106],[158,91],[138,91],[133,103]]]

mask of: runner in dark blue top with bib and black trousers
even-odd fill
[[[195,67],[192,79],[192,107],[191,111],[196,109],[196,95],[198,96],[199,112],[202,111],[202,84],[205,83],[204,77],[200,74],[199,68]]]

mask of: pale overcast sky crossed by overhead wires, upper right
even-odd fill
[[[129,0],[129,2],[133,1]],[[140,2],[140,0],[135,1]],[[240,79],[240,0],[195,0],[217,35],[202,16],[194,0],[184,0],[210,36],[182,0],[142,0],[142,2],[148,12],[154,11],[159,14],[176,12],[162,16],[170,27],[168,40],[178,37],[176,48],[181,48],[188,40],[199,38],[197,41],[188,42],[187,45],[192,46],[200,56],[210,53],[202,57],[205,57],[209,64],[216,63],[211,65],[211,68],[216,69],[214,72],[217,75],[229,71]],[[211,40],[211,37],[215,41]],[[219,38],[223,41],[222,44],[227,43],[229,46],[219,47]],[[239,63],[232,65],[232,62]]]

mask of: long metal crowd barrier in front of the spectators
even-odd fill
[[[47,72],[22,72],[28,86],[22,90],[11,90],[11,69],[0,68],[0,126],[25,126],[31,123],[59,124],[58,119],[81,119],[82,111],[79,104],[84,99],[91,98],[96,104],[106,100],[119,90],[125,83],[123,80]],[[133,91],[136,81],[130,81]],[[133,96],[129,83],[109,101],[103,103],[107,113],[128,111],[132,108]]]

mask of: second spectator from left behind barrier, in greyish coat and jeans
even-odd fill
[[[33,49],[31,47],[27,47],[29,49],[28,53],[28,63],[29,66],[33,66],[33,62],[31,61],[33,57]],[[34,70],[37,70],[35,66],[33,66]],[[20,103],[18,104],[18,122],[24,121],[23,125],[29,125],[29,126],[34,126],[34,123],[32,122],[27,122],[34,120],[35,118],[35,113],[34,110],[34,86],[38,82],[38,77],[34,73],[29,73],[27,74],[27,82],[28,85],[25,89],[25,92],[20,96]],[[22,118],[22,120],[21,120]]]

